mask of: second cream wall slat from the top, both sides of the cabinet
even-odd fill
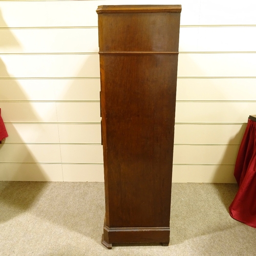
[[[181,27],[180,52],[256,51],[255,27]],[[1,53],[98,52],[98,29],[1,29]],[[65,42],[65,44],[63,44]],[[236,43],[234,43],[236,42]]]

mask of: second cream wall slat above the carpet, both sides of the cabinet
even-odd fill
[[[175,145],[174,164],[234,164],[238,149],[239,145]],[[103,163],[103,153],[101,145],[6,143],[1,148],[0,161],[99,164]]]

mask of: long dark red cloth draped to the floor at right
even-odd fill
[[[256,228],[256,122],[248,120],[234,167],[239,190],[229,206],[233,219]]]

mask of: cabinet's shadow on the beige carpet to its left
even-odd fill
[[[103,182],[47,182],[30,213],[101,244],[104,222]]]

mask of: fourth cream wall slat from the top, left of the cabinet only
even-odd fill
[[[0,79],[1,100],[99,100],[100,79]]]

